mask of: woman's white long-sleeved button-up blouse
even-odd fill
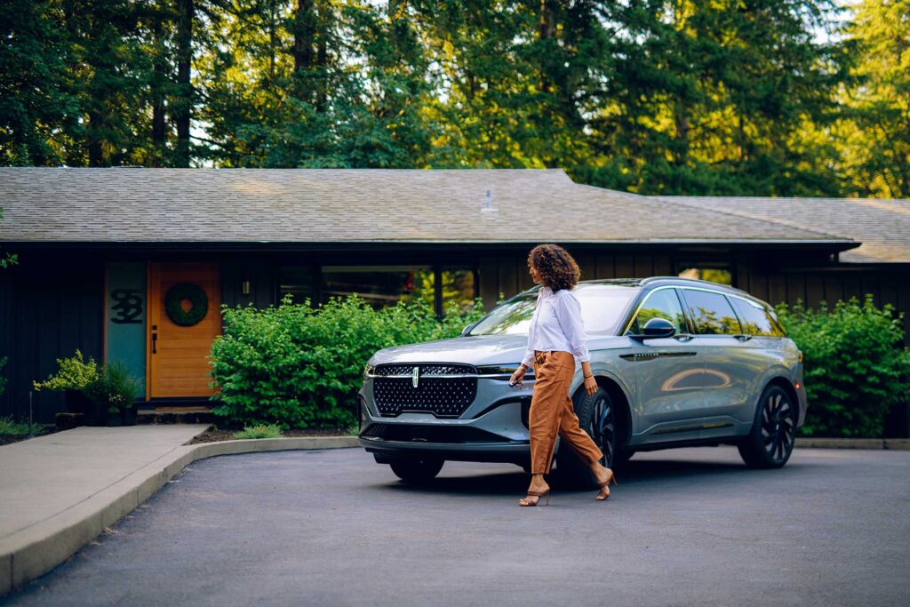
[[[549,287],[541,287],[528,329],[528,351],[521,364],[530,369],[534,350],[538,349],[571,352],[576,363],[587,362],[591,355],[584,338],[581,302],[575,292],[561,288],[554,293]]]

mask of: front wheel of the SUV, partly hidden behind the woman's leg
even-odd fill
[[[572,408],[578,416],[581,430],[588,433],[603,453],[601,463],[612,470],[632,457],[632,451],[622,449],[618,442],[622,436],[622,416],[607,390],[598,388],[591,396],[584,389],[576,393]],[[556,470],[560,480],[575,487],[593,487],[596,483],[591,470],[579,459],[568,444],[560,441],[556,453]]]

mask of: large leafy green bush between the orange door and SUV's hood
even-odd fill
[[[211,349],[219,389],[213,409],[228,423],[350,428],[372,354],[390,346],[456,337],[483,308],[454,304],[438,320],[422,299],[372,309],[362,298],[331,298],[313,309],[288,296],[268,309],[223,309],[224,332]]]

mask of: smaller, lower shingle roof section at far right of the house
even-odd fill
[[[743,218],[817,229],[863,244],[840,260],[910,262],[910,200],[892,198],[681,197],[657,199],[693,210],[724,211]]]

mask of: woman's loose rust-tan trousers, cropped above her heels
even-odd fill
[[[531,434],[531,474],[548,474],[556,447],[556,436],[575,450],[581,461],[600,460],[603,453],[581,430],[571,407],[569,387],[575,373],[571,352],[535,350],[534,393],[528,425]]]

